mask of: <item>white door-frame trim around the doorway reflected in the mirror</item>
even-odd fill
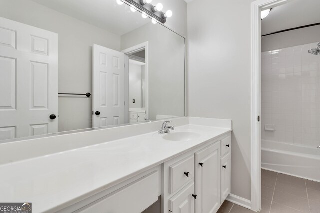
[[[145,116],[149,119],[149,42],[143,42],[130,48],[124,49],[121,52],[129,54],[138,49],[145,49]],[[128,103],[129,104],[129,103]]]

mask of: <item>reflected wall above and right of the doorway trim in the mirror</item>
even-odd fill
[[[148,41],[149,119],[184,116],[184,38],[148,23],[121,36],[121,49]]]

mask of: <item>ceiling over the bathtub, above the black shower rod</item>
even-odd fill
[[[320,0],[293,0],[272,8],[262,20],[262,35],[320,22]]]

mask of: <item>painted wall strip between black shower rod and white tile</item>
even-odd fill
[[[263,24],[262,24],[263,28]],[[320,41],[320,25],[262,37],[262,52]]]

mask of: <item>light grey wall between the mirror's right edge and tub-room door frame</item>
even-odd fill
[[[188,115],[232,119],[231,193],[249,200],[251,2],[188,3],[187,73]]]

